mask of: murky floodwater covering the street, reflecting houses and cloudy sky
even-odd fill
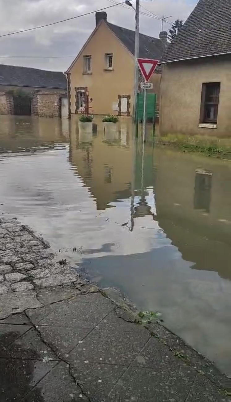
[[[132,138],[1,116],[0,209],[231,373],[231,162]]]

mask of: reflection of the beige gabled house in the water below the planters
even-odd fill
[[[98,123],[97,136],[93,136],[90,142],[83,141],[83,136],[78,133],[78,123],[74,122],[74,119],[72,125],[70,162],[96,199],[97,209],[104,210],[111,207],[110,204],[114,201],[129,199],[132,180],[136,189],[140,189],[141,186],[140,154],[137,154],[137,171],[135,178],[133,177],[134,144],[130,140],[131,122],[121,123],[116,131],[112,130],[111,132],[105,131],[103,123],[100,122]],[[147,148],[145,163],[146,160],[150,163],[145,164],[145,187],[152,185],[153,181],[151,169],[149,169],[152,165],[151,152]]]

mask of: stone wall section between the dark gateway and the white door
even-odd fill
[[[31,114],[39,117],[60,117],[61,96],[65,93],[66,91],[37,92],[33,97]]]

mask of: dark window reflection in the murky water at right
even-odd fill
[[[195,176],[194,209],[209,212],[211,203],[212,172],[197,169]]]

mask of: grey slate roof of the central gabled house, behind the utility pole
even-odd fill
[[[135,31],[130,29],[118,27],[106,22],[112,32],[120,39],[120,41],[127,47],[127,49],[134,55],[135,53]],[[139,57],[144,59],[161,59],[166,44],[157,38],[139,34]]]

